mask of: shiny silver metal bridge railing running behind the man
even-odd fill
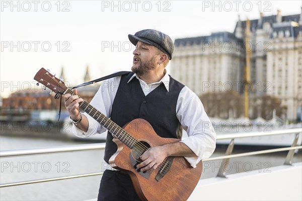
[[[274,152],[281,152],[281,151],[288,151],[284,164],[291,165],[292,158],[294,155],[294,151],[296,149],[302,149],[302,146],[296,146],[299,133],[302,132],[302,128],[295,128],[295,129],[285,129],[285,130],[276,130],[267,132],[254,132],[254,133],[238,133],[238,134],[222,134],[216,137],[216,140],[226,140],[231,139],[231,142],[226,149],[224,156],[212,157],[208,159],[202,160],[205,161],[213,161],[213,160],[221,160],[221,165],[219,167],[219,171],[217,176],[225,177],[225,165],[228,165],[230,158],[235,157],[242,157],[242,156],[251,156],[257,154],[266,154],[266,153],[274,153]],[[269,136],[269,135],[281,135],[281,134],[295,134],[294,140],[290,147],[285,148],[276,148],[276,149],[267,149],[262,151],[253,151],[247,153],[240,153],[240,154],[233,154],[233,149],[235,145],[235,139],[237,138],[247,138],[247,137],[256,137],[256,136]],[[39,155],[39,154],[53,154],[53,153],[63,153],[63,152],[73,152],[73,151],[85,151],[85,150],[102,150],[105,149],[105,143],[96,143],[96,144],[86,144],[86,145],[68,145],[68,146],[57,146],[57,147],[45,147],[45,148],[33,148],[33,149],[20,149],[20,150],[1,150],[0,151],[0,158],[5,157],[17,157],[17,156],[29,156],[29,155]],[[224,168],[222,168],[224,167]],[[224,170],[223,170],[224,169]],[[12,182],[12,183],[2,183],[0,184],[1,187],[9,187],[9,186],[16,186],[16,185],[24,185],[24,184],[31,184],[31,183],[40,183],[40,182],[47,182],[47,181],[56,181],[62,179],[71,179],[71,178],[79,178],[79,177],[86,177],[86,176],[95,176],[95,175],[102,175],[103,172],[92,172],[86,174],[77,174],[77,175],[69,175],[69,176],[61,176],[61,177],[52,177],[52,178],[45,178],[45,179],[35,179],[35,180],[28,180],[28,181],[20,181],[20,182]]]

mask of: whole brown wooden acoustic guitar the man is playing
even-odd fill
[[[62,95],[73,91],[64,82],[41,68],[34,79],[50,90]],[[88,104],[80,108],[99,122],[113,135],[117,152],[110,158],[113,168],[126,171],[141,200],[187,200],[197,185],[202,172],[202,162],[193,168],[184,157],[168,157],[151,172],[137,171],[139,157],[150,147],[179,142],[175,138],[162,138],[152,126],[143,119],[135,119],[120,127],[108,117]]]

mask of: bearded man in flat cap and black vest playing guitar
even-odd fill
[[[110,117],[119,126],[142,118],[148,121],[161,137],[181,138],[180,126],[188,138],[172,144],[156,146],[145,151],[137,165],[140,171],[152,171],[168,156],[184,156],[191,166],[208,158],[215,149],[215,132],[203,109],[200,99],[188,87],[170,77],[165,67],[172,59],[174,44],[171,38],[156,30],[142,30],[128,35],[133,51],[132,72],[111,78],[102,86],[91,105]],[[185,68],[186,66],[184,66]],[[77,90],[74,90],[77,94]],[[88,137],[105,131],[87,114],[81,114],[78,95],[64,95],[73,132]],[[116,152],[108,132],[104,160]],[[98,200],[139,200],[130,177],[113,168],[105,170],[99,189]]]

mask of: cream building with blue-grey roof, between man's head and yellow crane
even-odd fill
[[[242,40],[228,32],[175,40],[172,76],[196,94],[232,90],[244,67]]]

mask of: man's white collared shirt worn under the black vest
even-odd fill
[[[165,71],[166,72],[166,71]],[[169,91],[170,77],[168,73],[159,81],[147,84],[139,79],[136,74],[129,79],[136,78],[140,82],[140,86],[145,95],[153,91],[161,83],[164,83],[167,91]],[[107,117],[111,116],[114,97],[120,83],[121,76],[113,77],[102,82],[98,92],[95,94],[90,104]],[[129,82],[128,81],[128,82]],[[81,138],[85,138],[96,133],[106,131],[96,120],[84,113],[89,121],[88,131],[84,132],[73,125],[73,133]],[[188,137],[181,142],[186,144],[195,154],[195,157],[185,157],[192,167],[205,158],[209,158],[215,150],[216,133],[212,124],[204,111],[203,105],[198,96],[187,86],[180,91],[177,104],[176,116],[181,123],[183,129],[187,132]]]

